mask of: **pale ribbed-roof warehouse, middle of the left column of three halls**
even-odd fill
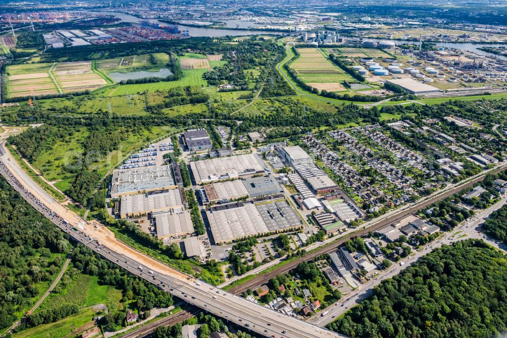
[[[120,217],[135,217],[184,205],[182,189],[163,190],[160,193],[147,193],[123,196],[120,200]],[[183,190],[185,193],[185,190]]]

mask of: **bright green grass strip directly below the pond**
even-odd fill
[[[177,81],[163,81],[154,83],[140,83],[132,85],[115,85],[107,88],[103,95],[105,96],[118,96],[142,93],[144,90],[156,91],[156,90],[168,90],[175,87],[185,86],[207,86],[206,80],[203,79],[202,75],[206,72],[206,69],[192,69],[184,70],[183,78]]]

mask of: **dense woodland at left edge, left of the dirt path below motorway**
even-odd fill
[[[17,320],[63,264],[63,232],[0,179],[0,330]],[[60,255],[57,255],[57,254]]]

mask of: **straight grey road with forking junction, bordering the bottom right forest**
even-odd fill
[[[430,253],[436,248],[440,248],[442,245],[451,245],[453,242],[462,241],[470,238],[482,239],[485,240],[489,245],[502,250],[507,253],[507,247],[499,245],[493,241],[488,239],[485,235],[481,234],[478,229],[479,225],[482,224],[495,210],[500,209],[507,202],[507,196],[500,199],[493,206],[485,209],[484,211],[476,214],[475,216],[469,218],[466,221],[463,221],[458,226],[456,226],[453,230],[446,232],[440,239],[437,241],[433,241],[426,245],[424,249],[416,252],[413,256],[409,256],[403,259],[404,265],[393,264],[387,271],[383,272],[381,276],[378,276],[374,280],[371,280],[368,283],[362,284],[357,289],[353,290],[349,294],[347,294],[346,299],[341,299],[337,301],[334,305],[328,307],[327,309],[323,309],[320,313],[325,311],[329,311],[329,313],[325,316],[314,315],[309,318],[308,321],[316,324],[318,326],[324,326],[328,323],[332,322],[336,317],[341,316],[349,308],[355,306],[361,300],[368,298],[373,289],[379,285],[383,280],[391,278],[397,274],[399,274],[403,269],[411,266],[414,262],[416,262],[420,257]]]

